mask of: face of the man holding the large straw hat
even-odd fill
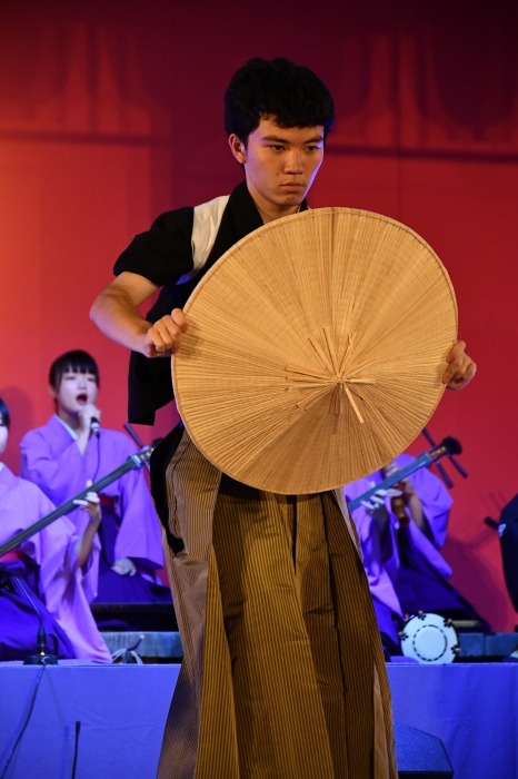
[[[252,197],[279,209],[299,206],[323,159],[323,127],[278,127],[263,118],[247,146],[230,136],[236,159],[245,165]],[[261,203],[259,204],[261,205]]]

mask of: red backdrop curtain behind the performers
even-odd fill
[[[273,3],[3,2],[0,9],[0,395],[6,458],[52,412],[51,361],[86,348],[103,423],[124,421],[127,355],[88,309],[159,213],[227,194],[241,172],[221,98],[252,56],[312,67],[337,124],[310,201],[399,219],[454,282],[476,382],[430,423],[460,438],[465,482],[445,554],[497,629],[518,621],[499,542],[482,524],[518,492],[515,446],[518,6],[409,0]],[[173,412],[166,410],[156,432]],[[151,432],[140,431],[149,440]],[[424,438],[414,452],[424,450]]]

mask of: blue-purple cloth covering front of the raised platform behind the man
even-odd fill
[[[43,671],[6,779],[155,779],[177,664]],[[518,663],[388,667],[395,719],[442,739],[455,779],[518,779]],[[0,773],[40,668],[0,664]]]

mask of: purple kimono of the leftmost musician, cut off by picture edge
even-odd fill
[[[6,465],[0,467],[0,542],[53,509],[34,484],[18,479]],[[81,569],[76,554],[77,541],[78,533],[72,522],[62,516],[2,560],[2,659],[36,653],[39,620],[29,603],[29,598],[32,598],[41,613],[50,652],[60,657],[111,661],[89,607],[97,580],[99,543],[94,544],[87,566]],[[10,573],[17,579],[12,580]]]

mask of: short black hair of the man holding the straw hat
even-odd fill
[[[225,93],[225,129],[247,144],[261,118],[279,127],[317,127],[323,137],[335,121],[331,95],[319,77],[283,57],[256,57],[237,70]]]

